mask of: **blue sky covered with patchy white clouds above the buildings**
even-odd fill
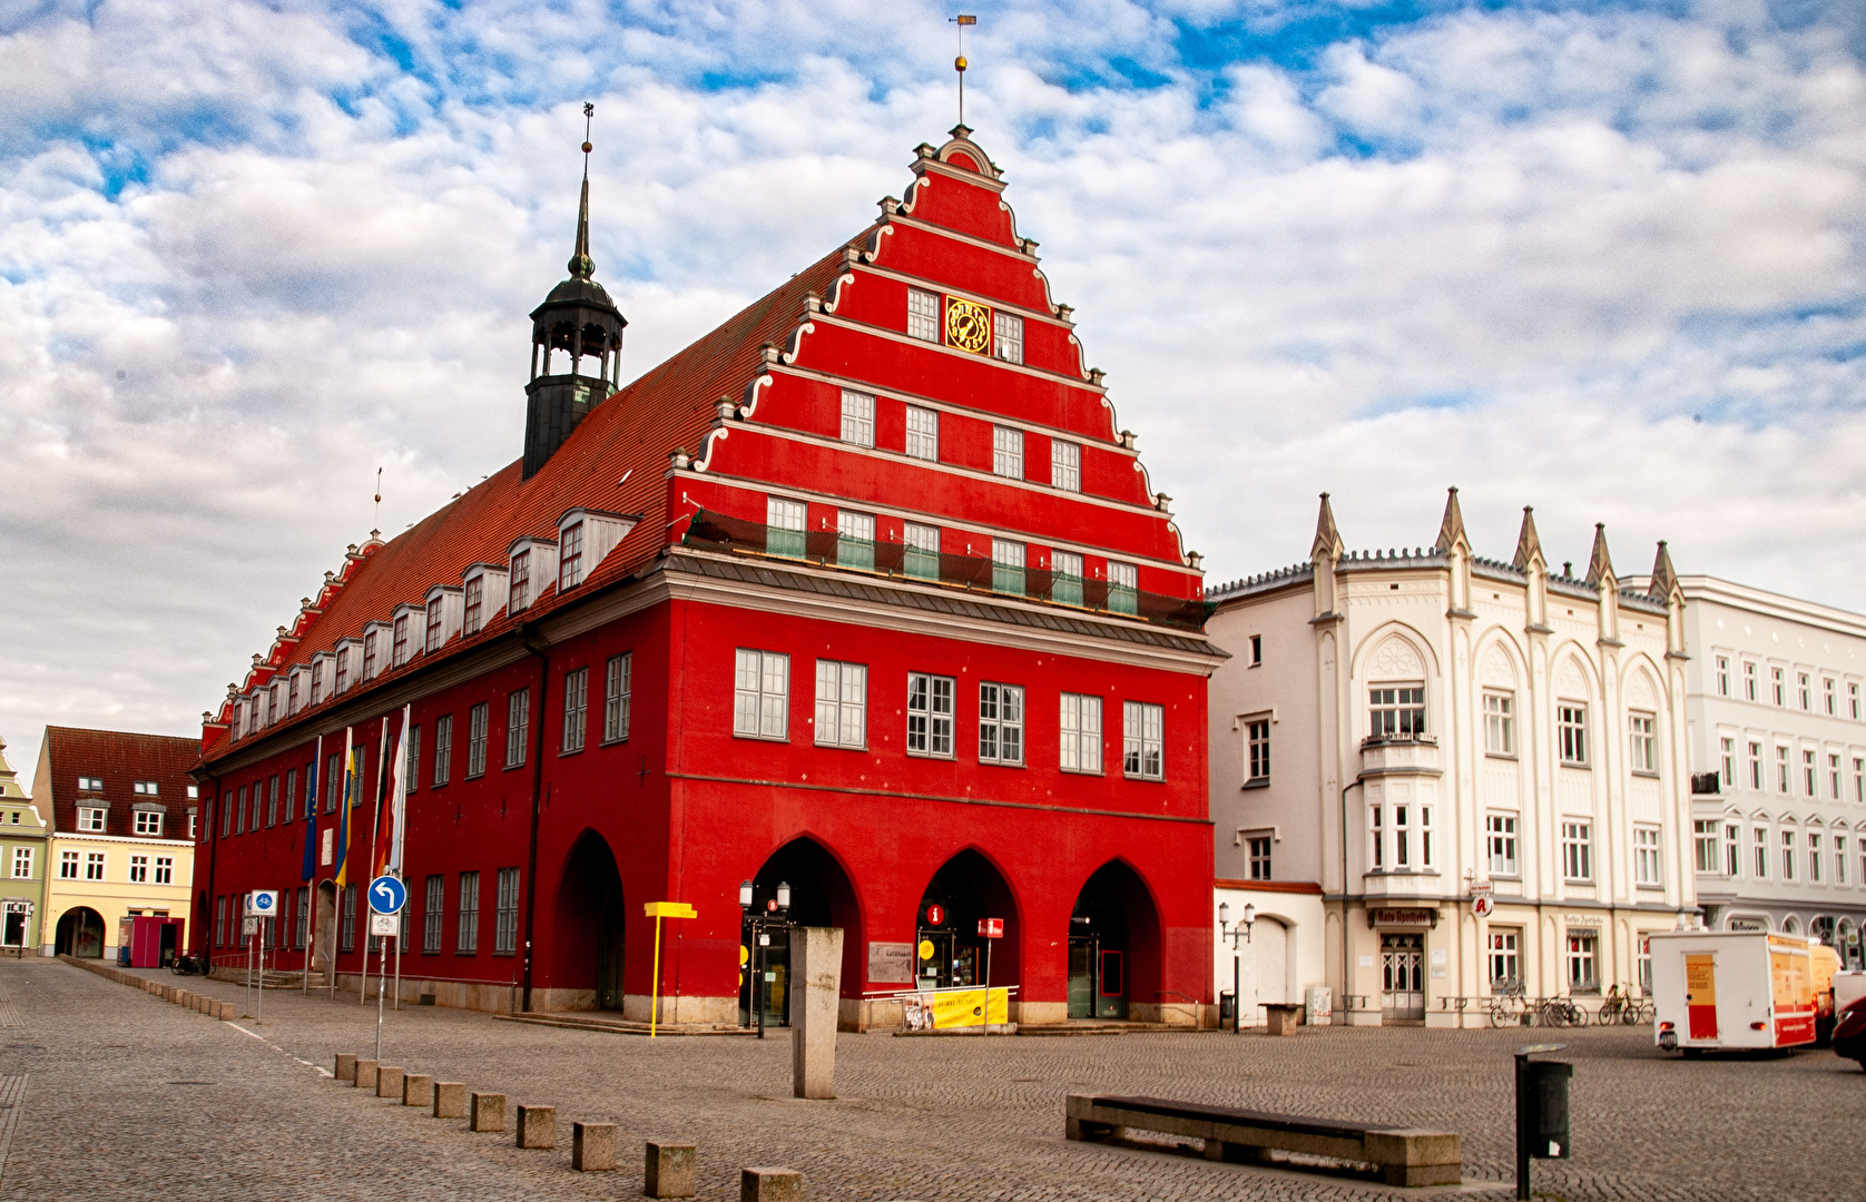
[[[1000,4],[968,119],[1211,579],[1357,547],[1866,610],[1851,0]],[[954,123],[916,0],[0,7],[0,735],[198,732],[343,545],[508,463],[593,254],[640,373]]]

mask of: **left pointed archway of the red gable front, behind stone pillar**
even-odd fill
[[[814,838],[795,838],[765,860],[765,866],[752,877],[752,913],[773,915],[778,885],[789,885],[791,907],[787,918],[791,926],[840,926],[842,928],[842,995],[862,997],[862,905],[855,894],[855,883],[829,847]],[[769,929],[754,937],[752,924],[746,922],[741,944],[746,948],[746,972],[739,985],[741,1021],[758,1023],[758,1002],[765,1006],[767,1025],[789,1023],[789,971],[791,952],[786,929]],[[763,943],[769,941],[769,943]],[[754,982],[763,976],[763,982]],[[754,984],[759,989],[754,993]]]

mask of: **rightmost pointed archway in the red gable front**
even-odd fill
[[[1159,1017],[1159,909],[1121,860],[1095,870],[1069,915],[1069,1017]]]

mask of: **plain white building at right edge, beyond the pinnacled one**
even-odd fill
[[[1866,963],[1866,618],[1683,577],[1692,866],[1706,924]]]

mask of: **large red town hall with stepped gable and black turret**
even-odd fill
[[[905,200],[616,386],[625,319],[534,312],[524,457],[351,547],[207,722],[196,931],[285,890],[274,963],[355,987],[384,724],[411,707],[403,993],[741,1023],[746,928],[843,928],[843,1021],[991,984],[1013,1021],[1198,1023],[1211,823],[1198,556],[1118,431],[1069,306],[959,127]],[[300,877],[351,732],[338,890]],[[317,797],[306,778],[319,756]],[[315,928],[315,931],[312,929]],[[926,956],[933,944],[931,956]],[[334,965],[330,959],[334,957]],[[784,1006],[784,937],[771,961]]]

